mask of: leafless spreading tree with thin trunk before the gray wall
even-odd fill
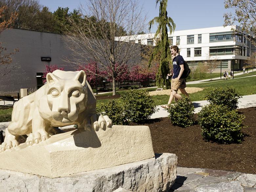
[[[88,0],[87,7],[79,10],[79,22],[69,18],[72,27],[65,39],[73,58],[66,60],[76,66],[96,61],[113,78],[115,95],[115,78],[121,73],[118,69],[125,64],[132,67],[140,55],[140,45],[130,35],[135,39],[145,29],[142,9],[135,0]]]

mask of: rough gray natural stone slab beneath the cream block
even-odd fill
[[[118,188],[132,192],[167,192],[175,182],[176,166],[177,156],[163,153],[156,154],[156,158],[60,178],[0,170],[0,192],[113,192]]]

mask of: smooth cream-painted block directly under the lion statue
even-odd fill
[[[154,157],[148,126],[120,126],[53,135],[39,144],[26,143],[0,154],[0,169],[46,177],[113,167]]]

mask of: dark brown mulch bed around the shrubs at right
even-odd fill
[[[150,128],[154,152],[176,154],[178,166],[256,174],[256,107],[238,111],[248,126],[242,130],[246,137],[241,144],[205,142],[198,124],[181,128],[173,126],[168,117],[143,125]]]

